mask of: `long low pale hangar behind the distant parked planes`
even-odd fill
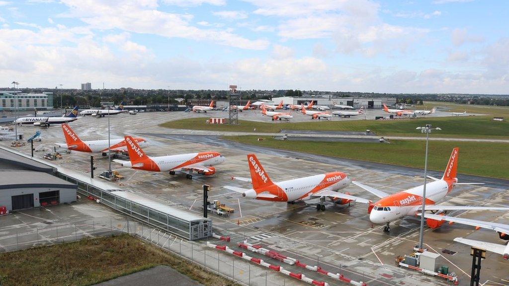
[[[326,105],[332,106],[332,101],[335,104],[350,105],[354,108],[382,108],[382,104],[394,105],[396,104],[395,97],[377,97],[377,98],[365,98],[365,97],[333,97],[332,95],[303,95],[301,97],[274,97],[272,98],[271,104],[278,104],[280,101],[283,104],[304,104],[306,105],[310,101],[314,101],[315,105]]]

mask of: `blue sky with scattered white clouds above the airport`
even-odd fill
[[[0,87],[509,94],[506,0],[0,0]]]

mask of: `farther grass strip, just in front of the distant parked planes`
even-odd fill
[[[420,136],[415,130],[417,126],[427,123],[442,128],[431,136],[455,138],[509,138],[509,122],[492,121],[491,117],[438,117],[419,118],[401,121],[349,120],[327,122],[297,122],[274,124],[272,122],[254,122],[239,120],[239,125],[207,124],[203,118],[190,118],[161,124],[162,127],[176,129],[214,130],[253,132],[279,132],[289,130],[321,130],[321,131],[365,131],[370,129],[380,136]]]

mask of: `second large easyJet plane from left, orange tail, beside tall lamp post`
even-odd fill
[[[155,172],[169,171],[169,175],[175,175],[176,171],[188,172],[186,178],[192,179],[193,171],[205,176],[214,175],[216,169],[212,166],[224,162],[224,156],[217,152],[149,157],[133,137],[125,136],[124,139],[130,161],[113,160],[124,167]]]

